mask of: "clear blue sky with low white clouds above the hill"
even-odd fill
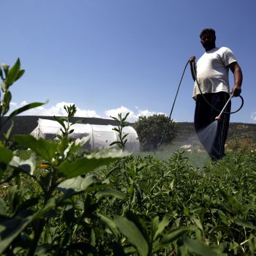
[[[255,0],[1,0],[0,7],[0,63],[19,57],[26,69],[12,86],[12,108],[49,99],[26,114],[59,116],[75,103],[77,116],[169,116],[189,56],[203,54],[200,31],[212,27],[244,73],[244,108],[231,121],[256,123]],[[175,121],[193,121],[192,89],[187,69]],[[233,99],[233,109],[239,104]]]

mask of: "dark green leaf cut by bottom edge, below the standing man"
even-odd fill
[[[189,252],[195,252],[197,255],[202,256],[217,256],[219,255],[217,252],[214,252],[213,249],[211,249],[211,246],[208,246],[207,244],[203,244],[202,241],[186,238],[184,239],[184,244],[187,246],[187,249]]]

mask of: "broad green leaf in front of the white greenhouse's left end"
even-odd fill
[[[15,141],[19,146],[25,146],[31,148],[35,153],[39,154],[48,162],[52,162],[55,157],[57,143],[51,140],[44,140],[39,138],[38,140],[31,135],[15,135]]]

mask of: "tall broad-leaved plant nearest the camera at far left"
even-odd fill
[[[1,100],[2,114],[7,113],[9,109],[11,99],[9,87],[20,77],[19,60],[12,69],[9,70],[6,67],[4,70],[6,78],[2,83],[4,90],[4,98]],[[5,94],[8,94],[8,97]],[[35,103],[27,105],[26,108],[15,110],[8,119],[37,105],[42,104]],[[69,236],[67,231],[69,229],[68,221],[73,222],[74,226],[71,230],[74,232],[77,228],[76,225],[84,222],[84,217],[89,218],[89,215],[86,214],[94,212],[94,210],[86,210],[86,208],[94,206],[94,200],[89,200],[84,205],[83,214],[78,219],[75,215],[73,219],[64,219],[61,224],[63,225],[61,232],[65,230],[66,235],[59,236],[59,231],[56,233],[54,227],[56,224],[54,223],[61,220],[62,214],[69,212],[70,203],[81,192],[87,191],[86,198],[89,199],[91,191],[97,192],[99,189],[108,187],[108,184],[100,181],[97,176],[86,176],[86,173],[127,155],[113,151],[80,154],[80,144],[77,141],[69,140],[67,137],[72,133],[72,130],[69,130],[71,126],[69,120],[75,114],[75,105],[65,107],[65,109],[68,114],[67,119],[56,118],[63,127],[61,129],[62,136],[59,136],[59,140],[36,140],[31,135],[16,135],[12,149],[7,148],[6,143],[0,145],[1,184],[8,184],[7,187],[11,186],[8,191],[9,197],[7,197],[10,200],[7,199],[8,202],[3,199],[0,200],[2,216],[0,219],[1,254],[34,255],[40,251],[59,254],[62,251],[73,250],[72,241],[74,237]],[[64,120],[67,120],[67,126]],[[10,138],[9,134],[4,142]],[[15,154],[19,146],[30,148],[34,154],[31,154],[29,159],[20,159]],[[40,170],[37,167],[36,157],[41,157],[45,161]],[[83,177],[80,175],[83,175]],[[25,176],[27,178],[24,178]],[[30,179],[36,183],[35,192],[37,193],[35,195],[29,191],[29,187],[24,186],[24,183],[26,184],[26,181]],[[61,210],[59,211],[60,207]],[[72,208],[72,211],[75,211],[75,208]],[[86,223],[84,224],[86,225]],[[49,225],[53,225],[53,227],[51,228]],[[93,227],[89,230],[93,232]],[[75,233],[73,234],[75,236]],[[53,242],[55,239],[60,239],[58,246]],[[20,244],[23,240],[26,242]],[[84,246],[86,246],[86,243]],[[88,246],[90,246],[90,243]]]

